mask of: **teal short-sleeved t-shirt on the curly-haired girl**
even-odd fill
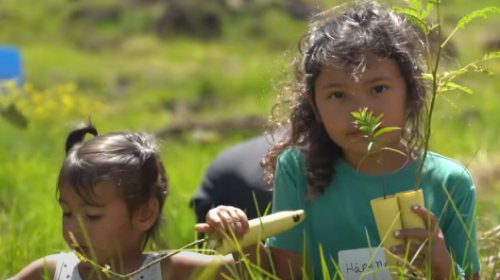
[[[286,150],[278,158],[272,212],[304,209],[306,219],[292,230],[269,238],[268,246],[301,253],[305,245],[314,275],[319,277],[321,245],[330,275],[334,275],[337,270],[332,260],[338,262],[339,251],[379,246],[370,200],[382,197],[384,189],[387,195],[412,190],[419,162],[409,162],[391,174],[366,175],[338,160],[325,193],[306,199],[308,183],[303,155],[297,149]],[[455,262],[466,273],[478,272],[476,191],[469,173],[456,161],[429,152],[421,182],[425,207],[439,219]],[[456,210],[467,228],[464,229]]]

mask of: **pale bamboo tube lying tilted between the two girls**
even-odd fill
[[[260,240],[285,232],[304,220],[304,210],[280,211],[271,215],[255,218],[249,223],[249,231],[240,239],[226,234],[221,240],[218,252],[226,255],[255,244]]]

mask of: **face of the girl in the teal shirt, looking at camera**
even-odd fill
[[[333,61],[334,65],[341,65]],[[366,154],[368,142],[353,124],[351,112],[367,107],[374,116],[383,114],[382,127],[404,124],[406,83],[395,60],[368,56],[367,67],[356,79],[351,69],[323,67],[315,83],[315,105],[330,139],[348,162]],[[400,131],[382,134],[380,145],[399,147]]]

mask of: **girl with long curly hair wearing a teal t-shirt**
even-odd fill
[[[384,257],[370,260],[380,244],[370,200],[412,190],[417,181],[426,105],[422,40],[408,19],[364,2],[317,15],[299,49],[295,79],[280,95],[290,111],[289,130],[263,163],[274,181],[272,211],[304,209],[306,220],[268,240],[274,268],[280,278],[298,279],[307,253],[314,278],[328,271],[358,279],[371,270],[368,276],[385,279],[390,276]],[[388,149],[367,156],[368,141],[351,114],[362,108],[383,116],[380,128],[401,128],[382,134],[377,147],[405,156]],[[475,187],[469,173],[428,152],[420,176],[425,207],[413,211],[427,228],[394,236],[418,241],[410,253],[418,256],[418,268],[428,264],[433,279],[477,278]],[[198,229],[228,227],[245,232],[241,210],[218,207]],[[405,245],[390,249],[400,256],[406,252]]]

